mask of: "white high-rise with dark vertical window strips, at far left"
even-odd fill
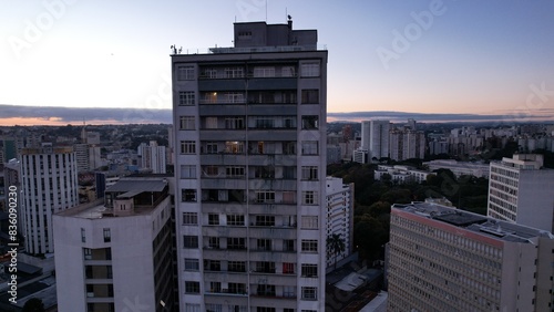
[[[52,215],[79,205],[75,153],[72,147],[21,149],[21,200],[29,253],[54,251]]]

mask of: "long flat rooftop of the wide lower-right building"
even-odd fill
[[[464,228],[465,230],[503,241],[532,243],[531,239],[533,238],[546,237],[554,239],[554,236],[548,231],[509,223],[433,202],[414,201],[408,205],[394,204],[392,208],[449,223],[454,227]]]

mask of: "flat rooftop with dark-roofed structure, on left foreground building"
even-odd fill
[[[151,214],[168,196],[168,181],[164,177],[125,177],[105,190],[104,198],[70,208],[59,216],[101,219]],[[117,202],[131,206],[119,212]]]

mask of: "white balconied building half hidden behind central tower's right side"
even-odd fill
[[[353,247],[353,183],[327,177],[327,238],[332,235],[340,236],[345,251],[335,254],[327,250],[327,267],[350,256]]]

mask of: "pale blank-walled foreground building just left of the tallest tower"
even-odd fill
[[[59,311],[174,311],[170,183],[127,177],[53,216]]]

